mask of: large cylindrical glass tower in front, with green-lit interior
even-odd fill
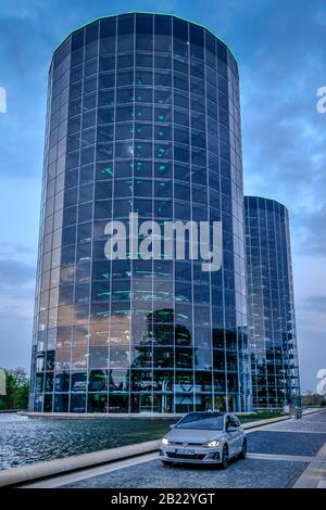
[[[111,220],[222,221],[223,266],[109,260]],[[246,410],[237,63],[209,30],[123,14],[73,31],[49,72],[30,408]]]

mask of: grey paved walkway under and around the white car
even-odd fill
[[[33,487],[222,488],[324,487],[326,411],[247,432],[248,458],[226,471],[212,467],[164,467],[158,454],[40,481]]]

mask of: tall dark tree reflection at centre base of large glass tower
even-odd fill
[[[190,331],[175,323],[173,308],[148,314],[147,334],[134,349],[131,388],[140,411],[152,403],[156,412],[172,412],[174,408],[181,412],[181,407],[193,407],[190,372],[196,348]]]

